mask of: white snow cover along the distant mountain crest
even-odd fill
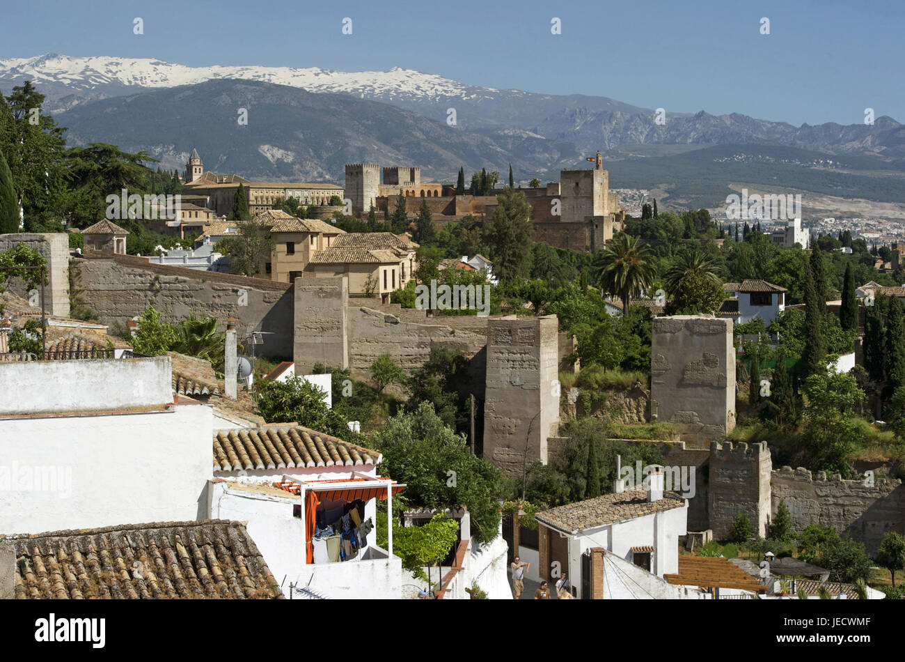
[[[117,84],[143,88],[191,85],[214,79],[238,78],[290,85],[312,92],[345,92],[370,99],[476,99],[498,92],[463,85],[431,73],[395,67],[388,72],[336,72],[309,67],[211,66],[189,67],[149,58],[70,57],[50,53],[32,58],[0,60],[0,79],[28,78],[61,83],[72,91]]]

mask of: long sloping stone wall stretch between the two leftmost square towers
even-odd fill
[[[134,255],[75,264],[79,265],[81,299],[105,324],[126,324],[149,305],[171,323],[194,313],[215,317],[225,328],[226,319],[234,317],[240,341],[248,324],[260,322],[262,331],[269,331],[255,348],[258,356],[288,359],[292,355],[290,283],[150,264],[148,258]]]

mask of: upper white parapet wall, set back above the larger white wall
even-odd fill
[[[168,356],[0,363],[0,416],[160,406],[171,374]]]

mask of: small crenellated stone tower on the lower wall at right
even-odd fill
[[[708,510],[717,540],[729,538],[738,513],[748,514],[756,535],[767,535],[772,469],[767,442],[710,444]]]

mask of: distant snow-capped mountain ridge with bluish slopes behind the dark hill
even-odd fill
[[[574,108],[628,114],[644,110],[605,97],[557,96],[466,85],[400,67],[387,72],[337,72],[319,67],[189,67],[149,58],[70,57],[55,53],[0,60],[0,89],[8,91],[14,84],[31,80],[40,85],[50,112],[69,110],[94,99],[218,79],[349,94],[443,121],[452,103],[459,115],[457,122],[471,128],[530,130],[548,115]]]

